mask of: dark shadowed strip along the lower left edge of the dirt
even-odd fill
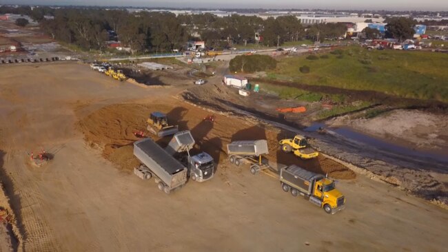
[[[0,190],[3,190],[6,193],[6,196],[9,198],[10,207],[12,208],[12,211],[14,211],[15,216],[17,218],[17,227],[19,229],[19,232],[22,235],[23,240],[26,239],[26,232],[25,227],[22,225],[22,218],[21,218],[21,199],[20,196],[16,193],[14,193],[14,187],[12,184],[12,180],[6,174],[5,169],[3,169],[3,157],[5,156],[5,152],[0,150],[0,180],[3,185],[3,188],[0,188]],[[0,206],[4,207],[4,206]],[[10,223],[6,224],[6,229],[8,230],[8,235],[10,235],[11,238],[11,244],[12,244],[12,251],[17,251],[19,248],[19,240],[17,240],[16,236],[14,235],[14,232],[12,231],[12,226]]]

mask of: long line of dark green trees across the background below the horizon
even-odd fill
[[[85,50],[106,49],[105,41],[118,39],[132,54],[171,52],[188,40],[203,40],[209,48],[259,43],[265,46],[285,42],[324,41],[345,34],[343,23],[320,23],[304,27],[295,16],[261,17],[232,14],[181,14],[170,12],[128,12],[102,8],[11,8],[1,6],[0,13],[23,14],[39,22],[53,39],[78,45]],[[45,19],[52,16],[53,19]],[[114,36],[115,33],[118,36]],[[256,40],[256,35],[262,39]]]

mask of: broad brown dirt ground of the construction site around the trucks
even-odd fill
[[[444,251],[445,209],[321,156],[278,151],[285,132],[181,101],[189,79],[141,87],[80,63],[0,67],[0,168],[30,251]],[[208,84],[207,84],[208,85]],[[150,112],[190,129],[216,176],[166,195],[130,169],[133,132]],[[227,162],[232,140],[266,138],[269,158],[338,178],[347,208],[335,215],[284,193],[274,172]],[[157,139],[166,145],[167,139]],[[52,160],[30,165],[31,151]],[[1,233],[0,233],[1,235]]]

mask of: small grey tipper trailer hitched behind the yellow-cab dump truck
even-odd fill
[[[241,140],[227,145],[227,155],[232,164],[241,165],[241,162],[250,164],[250,172],[257,174],[269,168],[267,160],[262,157],[269,154],[266,140]]]

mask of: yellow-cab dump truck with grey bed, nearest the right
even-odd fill
[[[345,197],[336,189],[336,182],[321,174],[291,165],[280,170],[280,182],[283,191],[307,198],[326,213],[345,209]]]

